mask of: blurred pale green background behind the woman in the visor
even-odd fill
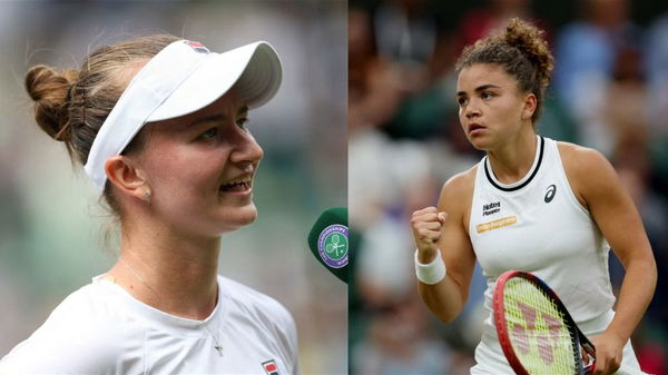
[[[118,251],[102,239],[99,194],[36,125],[26,72],[78,69],[97,47],[169,32],[212,51],[256,40],[278,51],[281,90],[249,114],[265,151],[258,219],[223,236],[219,273],[291,310],[305,374],[346,373],[347,286],[306,245],[320,213],[347,201],[346,20],[341,0],[0,1],[0,357]]]

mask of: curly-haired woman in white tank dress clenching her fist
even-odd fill
[[[438,207],[413,213],[419,292],[451,322],[464,306],[475,259],[489,313],[472,374],[512,374],[491,320],[497,278],[521,269],[544,279],[597,347],[595,374],[642,374],[629,342],[656,285],[656,265],[631,198],[601,154],[537,136],[552,71],[537,28],[512,20],[458,61],[460,121],[487,156],[451,178]],[[626,268],[615,310],[608,254]]]

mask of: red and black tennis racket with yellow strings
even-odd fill
[[[518,375],[586,375],[596,348],[557,294],[530,273],[509,270],[497,280],[494,325],[508,363]],[[587,364],[583,364],[587,358]]]

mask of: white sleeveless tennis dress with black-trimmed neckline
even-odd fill
[[[533,165],[513,184],[500,182],[488,157],[481,160],[469,233],[488,278],[484,308],[489,314],[471,374],[513,374],[492,320],[495,280],[507,270],[530,272],[548,283],[588,337],[601,334],[612,320],[610,247],[573,195],[554,140],[537,137]],[[616,374],[644,374],[630,342]]]

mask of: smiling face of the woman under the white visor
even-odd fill
[[[218,236],[253,223],[253,179],[263,150],[234,90],[194,114],[151,124],[139,157],[151,207],[188,234]]]

